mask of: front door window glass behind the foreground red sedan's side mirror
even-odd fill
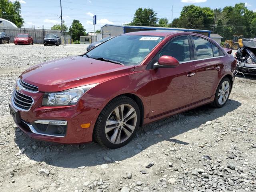
[[[172,56],[179,62],[191,60],[188,37],[178,37],[167,43],[167,45],[159,53],[159,56],[163,55]]]

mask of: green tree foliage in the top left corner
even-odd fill
[[[17,27],[21,27],[24,24],[24,20],[21,17],[20,2],[10,2],[9,0],[0,0],[0,18],[9,20],[16,24]]]

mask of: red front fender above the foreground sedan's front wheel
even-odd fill
[[[144,114],[148,115],[150,107],[151,75],[145,66],[137,66],[136,71],[106,80],[90,89],[84,96],[84,105],[102,110],[110,100],[122,94],[134,94],[140,98],[144,106]]]

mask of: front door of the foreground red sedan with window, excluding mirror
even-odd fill
[[[157,58],[163,55],[176,58],[180,65],[176,68],[157,68],[151,71],[150,117],[182,108],[192,102],[196,65],[188,36],[178,36],[168,42],[158,52]]]

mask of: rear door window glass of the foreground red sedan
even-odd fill
[[[196,47],[196,57],[197,59],[205,59],[213,57],[212,45],[208,40],[200,37],[192,36],[194,44]]]

